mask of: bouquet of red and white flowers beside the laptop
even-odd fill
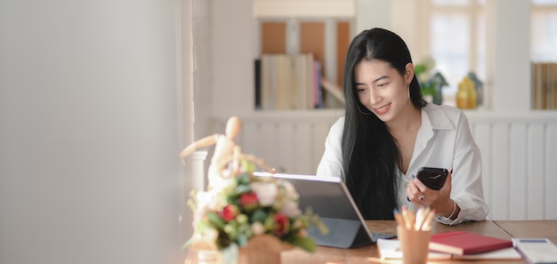
[[[253,236],[267,234],[313,252],[316,244],[306,229],[312,224],[324,228],[318,216],[301,212],[290,182],[252,172],[254,165],[242,161],[238,175],[190,200],[197,233],[193,239],[212,241],[222,250],[230,244],[243,247]]]

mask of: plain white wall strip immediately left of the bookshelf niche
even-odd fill
[[[215,116],[254,109],[254,18],[252,0],[213,0],[211,7],[213,85],[208,102]],[[206,106],[206,109],[209,109]],[[205,135],[201,135],[203,137]]]

